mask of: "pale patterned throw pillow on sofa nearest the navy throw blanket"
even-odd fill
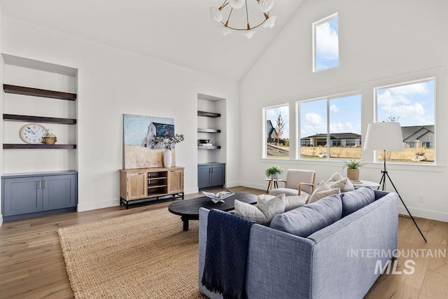
[[[235,200],[235,214],[255,221],[258,224],[269,225],[276,214],[285,211],[285,204],[286,199],[284,194],[278,195],[272,198],[272,200],[267,200],[256,206]]]

